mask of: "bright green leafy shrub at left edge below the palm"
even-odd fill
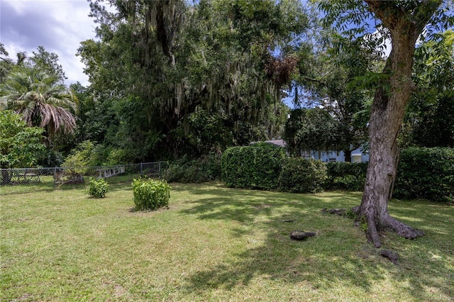
[[[0,111],[0,167],[31,167],[45,150],[43,129],[29,127],[13,111]]]

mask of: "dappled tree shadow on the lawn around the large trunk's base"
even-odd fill
[[[309,289],[329,290],[341,285],[367,293],[375,283],[386,283],[389,281],[385,279],[391,278],[399,282],[394,293],[405,291],[418,301],[454,296],[453,235],[449,231],[441,230],[436,234],[425,230],[427,237],[413,241],[386,235],[384,247],[401,255],[399,264],[394,266],[377,255],[378,250],[365,242],[365,235],[350,220],[320,212],[321,208],[358,205],[360,194],[283,194],[191,185],[179,186],[177,190],[187,190],[202,197],[192,201],[183,213],[199,219],[236,221],[243,228],[234,230],[234,235],[248,237],[248,242],[258,231],[265,233],[265,240],[260,245],[248,244],[243,252],[233,255],[233,259],[189,276],[187,291],[232,290],[236,286],[247,286],[258,277],[304,284]],[[442,213],[443,207],[431,208],[430,213],[422,215],[425,204],[401,206],[402,210],[396,211],[394,208],[399,205],[393,205],[394,213],[407,220],[419,219],[417,228],[424,224],[426,228],[438,225],[433,219],[444,219],[435,228],[448,228],[454,223],[452,208],[449,215]],[[304,242],[296,242],[289,239],[289,233],[295,229],[318,234]]]

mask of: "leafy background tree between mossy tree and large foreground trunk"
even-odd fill
[[[369,79],[382,63],[381,52],[323,27],[319,16],[311,18],[311,31],[310,38],[289,50],[299,58],[299,72],[292,81],[293,101],[298,107],[323,108],[333,117],[337,139],[331,147],[343,150],[345,161],[351,162],[351,152],[368,140],[373,96],[371,87],[358,84]],[[348,52],[339,49],[341,43]]]

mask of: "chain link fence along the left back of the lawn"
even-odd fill
[[[168,162],[145,162],[100,167],[0,169],[0,195],[29,192],[34,189],[54,190],[63,185],[84,184],[84,180],[89,177],[109,179],[125,174],[161,177],[168,166]]]

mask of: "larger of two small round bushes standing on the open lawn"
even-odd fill
[[[135,208],[139,211],[155,210],[169,205],[170,186],[165,181],[134,179],[133,196]]]

